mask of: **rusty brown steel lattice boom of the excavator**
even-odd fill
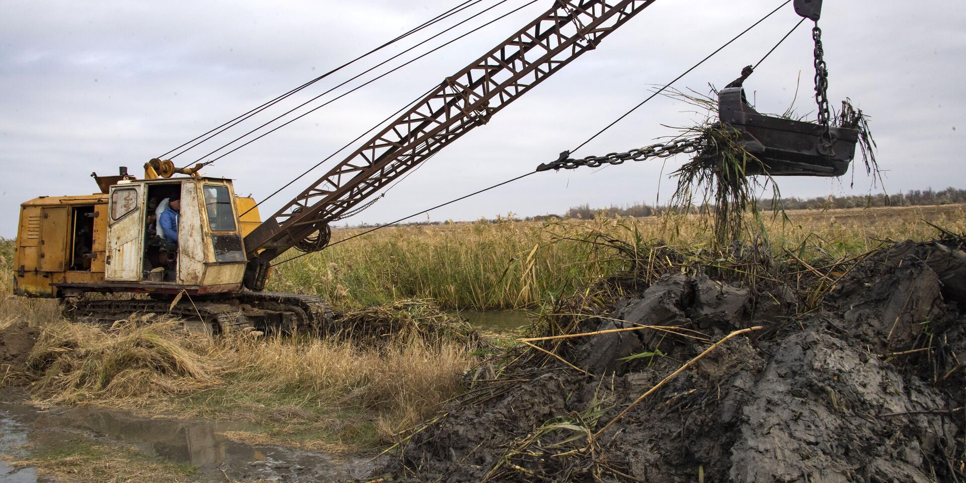
[[[558,0],[505,42],[447,77],[245,237],[270,260],[436,154],[550,74],[596,47],[654,0]],[[321,246],[319,246],[321,248]]]

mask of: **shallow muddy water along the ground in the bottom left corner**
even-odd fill
[[[147,418],[99,408],[38,411],[14,392],[0,392],[0,455],[28,456],[23,444],[43,446],[58,434],[137,448],[145,455],[197,467],[203,482],[269,480],[339,481],[364,477],[371,457],[340,458],[280,446],[229,440],[223,433],[251,430],[240,423]],[[43,448],[42,448],[43,449]],[[37,469],[15,470],[0,459],[0,481],[49,481]]]

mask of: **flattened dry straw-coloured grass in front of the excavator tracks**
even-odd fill
[[[250,333],[212,339],[176,321],[110,329],[57,322],[43,328],[28,365],[42,405],[226,418],[260,428],[236,438],[357,451],[391,440],[460,389],[469,339],[406,333],[363,345]]]

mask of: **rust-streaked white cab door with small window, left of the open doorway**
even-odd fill
[[[107,227],[105,278],[116,281],[139,281],[144,251],[144,186],[138,184],[111,187],[110,222]]]

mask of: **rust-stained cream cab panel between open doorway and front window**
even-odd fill
[[[182,184],[182,207],[178,222],[178,283],[201,285],[205,275],[206,246],[202,225],[205,200],[199,181]]]

